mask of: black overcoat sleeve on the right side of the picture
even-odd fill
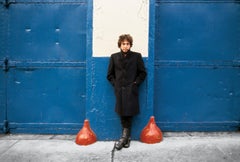
[[[137,78],[136,78],[136,84],[140,85],[144,79],[147,76],[147,72],[144,66],[144,62],[142,59],[142,55],[139,54],[138,59],[137,59]]]

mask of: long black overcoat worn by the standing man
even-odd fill
[[[115,111],[121,116],[139,113],[138,87],[146,77],[146,69],[140,53],[128,51],[111,55],[107,79],[114,87]]]

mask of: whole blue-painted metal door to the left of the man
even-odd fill
[[[76,133],[85,119],[87,2],[17,0],[1,11],[9,69],[0,73],[0,120],[12,133]]]

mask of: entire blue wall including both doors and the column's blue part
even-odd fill
[[[76,134],[89,119],[98,140],[117,139],[109,57],[92,57],[93,1],[4,3],[0,132]],[[150,0],[149,19],[148,75],[132,138],[151,115],[163,131],[238,130],[239,1]]]

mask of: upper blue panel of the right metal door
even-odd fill
[[[239,12],[237,3],[157,3],[156,59],[239,59]]]

